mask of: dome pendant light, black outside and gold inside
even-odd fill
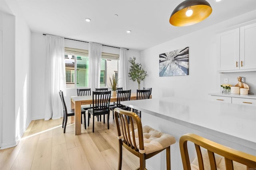
[[[185,0],[172,12],[170,24],[188,26],[206,19],[212,13],[212,7],[206,0]]]

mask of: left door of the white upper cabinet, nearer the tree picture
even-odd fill
[[[232,29],[219,35],[220,57],[219,70],[239,69],[239,34],[240,29]]]

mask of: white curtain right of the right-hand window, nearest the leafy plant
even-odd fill
[[[128,72],[127,72],[127,59],[126,59],[126,49],[120,48],[120,56],[118,63],[118,80],[119,87],[122,87],[123,90],[127,90],[127,82],[128,82]]]

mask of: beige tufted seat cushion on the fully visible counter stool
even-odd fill
[[[139,148],[139,138],[138,138],[138,131],[135,131],[135,140],[137,147]],[[166,133],[162,133],[153,129],[152,127],[146,125],[142,127],[143,131],[143,140],[144,140],[144,150],[146,154],[155,152],[157,150],[164,149],[176,142],[175,138],[172,135],[168,135]],[[130,133],[132,136],[132,133]],[[132,141],[132,145],[133,141]]]

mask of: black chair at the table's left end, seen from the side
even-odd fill
[[[64,100],[64,96],[63,96],[63,92],[60,90],[59,91],[59,95],[60,95],[60,100],[62,102],[62,106],[63,106],[63,121],[62,121],[62,128],[64,127],[64,131],[63,133],[66,133],[66,125],[67,125],[67,121],[68,121],[68,116],[74,116],[75,115],[75,110],[71,109],[69,111],[67,111],[67,107],[66,107],[66,103]],[[81,108],[81,114],[85,115],[85,109]],[[86,120],[84,119],[84,124],[86,126]]]

